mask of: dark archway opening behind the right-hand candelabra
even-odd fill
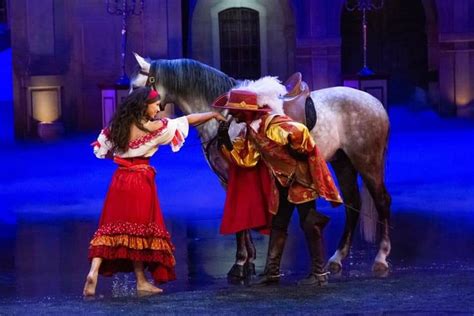
[[[426,2],[426,1],[425,1]],[[361,13],[343,9],[341,18],[342,73],[362,67]],[[379,11],[368,12],[368,65],[389,74],[391,104],[424,103],[428,99],[427,19],[421,0],[386,0]]]

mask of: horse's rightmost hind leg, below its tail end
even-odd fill
[[[381,222],[379,251],[374,260],[372,270],[376,274],[383,275],[388,271],[387,257],[390,254],[390,204],[391,197],[383,182],[382,166],[373,175],[362,174],[367,189],[372,195]]]

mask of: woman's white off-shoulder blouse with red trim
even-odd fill
[[[171,149],[174,152],[177,152],[183,146],[184,139],[188,136],[188,119],[182,116],[176,119],[163,118],[161,121],[163,122],[163,127],[130,141],[126,152],[114,152],[114,156],[120,158],[151,157],[156,153],[160,145],[168,144],[171,145]],[[105,158],[112,149],[113,144],[109,140],[109,134],[109,129],[104,128],[100,132],[97,141],[92,143],[94,154],[97,158]]]

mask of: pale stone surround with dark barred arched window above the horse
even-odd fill
[[[295,19],[288,1],[200,0],[189,10],[190,58],[236,79],[285,80],[294,72]]]

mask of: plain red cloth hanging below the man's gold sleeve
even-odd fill
[[[269,234],[272,219],[269,212],[271,181],[268,168],[262,161],[253,168],[229,164],[221,234],[234,234],[246,229]]]

